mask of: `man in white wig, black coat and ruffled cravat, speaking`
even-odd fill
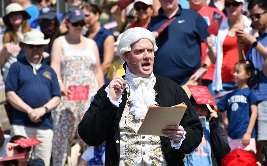
[[[157,49],[150,31],[126,30],[118,45],[127,63],[125,76],[115,76],[113,68],[112,81],[99,89],[78,126],[88,145],[106,141],[105,165],[183,165],[183,153],[191,153],[202,140],[202,125],[185,91],[152,72]],[[150,105],[182,102],[187,109],[180,125],[159,129],[168,137],[137,134]]]

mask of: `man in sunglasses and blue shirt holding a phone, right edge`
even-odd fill
[[[255,68],[260,72],[261,79],[258,80],[258,87],[256,94],[260,100],[258,103],[258,117],[257,117],[257,142],[256,142],[256,158],[262,163],[262,143],[267,142],[267,77],[263,74],[263,62],[267,58],[267,2],[262,0],[250,1],[248,4],[250,18],[254,27],[259,30],[259,37],[254,38],[242,30],[236,31],[238,39],[238,52],[241,59],[250,60]],[[244,56],[242,51],[245,44],[250,44],[249,52]]]

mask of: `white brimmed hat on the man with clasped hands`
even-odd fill
[[[50,42],[50,39],[44,39],[44,37],[45,35],[42,32],[33,30],[24,34],[24,40],[22,40],[21,43],[31,45],[46,45]]]

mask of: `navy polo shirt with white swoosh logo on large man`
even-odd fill
[[[200,68],[200,44],[209,33],[206,21],[194,10],[182,9],[179,5],[175,17],[156,39],[158,51],[155,52],[153,72],[182,85]],[[147,29],[156,31],[168,20],[160,8]]]

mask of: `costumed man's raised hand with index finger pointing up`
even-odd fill
[[[109,82],[109,97],[112,98],[112,100],[116,100],[121,96],[121,93],[124,91],[124,88],[126,86],[126,80],[124,80],[120,76],[116,76],[116,68],[113,66],[112,71],[112,81]]]

